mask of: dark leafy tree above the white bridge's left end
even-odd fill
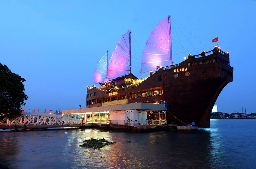
[[[0,118],[15,118],[21,116],[20,108],[25,106],[28,96],[24,93],[21,76],[12,73],[11,70],[0,63]]]

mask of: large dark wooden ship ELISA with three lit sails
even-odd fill
[[[212,108],[222,89],[233,81],[228,52],[215,46],[172,65],[169,16],[152,31],[146,43],[141,73],[149,72],[148,77],[138,79],[131,73],[130,52],[128,30],[113,51],[109,65],[108,59],[104,60],[107,53],[101,60],[104,64],[98,63],[101,70],[95,69],[94,84],[101,87],[87,87],[87,108],[138,102],[165,104],[167,124],[194,122],[201,128],[210,127]]]

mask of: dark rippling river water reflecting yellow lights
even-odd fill
[[[256,119],[211,119],[210,125],[197,134],[98,129],[0,132],[0,162],[10,169],[256,168]],[[90,138],[115,143],[99,150],[79,146]]]

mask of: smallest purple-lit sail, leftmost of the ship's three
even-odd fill
[[[97,63],[94,71],[93,84],[103,83],[107,78],[107,63],[108,63],[108,51]]]

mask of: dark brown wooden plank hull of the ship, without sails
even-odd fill
[[[178,65],[163,67],[155,73],[150,73],[147,80],[134,87],[122,88],[126,86],[123,83],[118,86],[117,90],[114,87],[109,87],[110,91],[97,88],[87,89],[87,96],[89,96],[87,108],[101,106],[101,103],[97,103],[98,100],[103,102],[106,99],[111,101],[120,98],[127,99],[128,104],[163,103],[164,95],[166,95],[167,124],[195,122],[198,127],[209,128],[213,105],[222,89],[232,81],[233,67],[229,65],[229,54],[216,47],[212,51],[189,56],[187,60]],[[154,94],[151,92],[154,90],[160,92]],[[117,92],[116,95],[109,96],[109,92],[114,91]],[[138,93],[144,92],[147,96],[139,97]],[[150,93],[154,95],[150,96]]]

